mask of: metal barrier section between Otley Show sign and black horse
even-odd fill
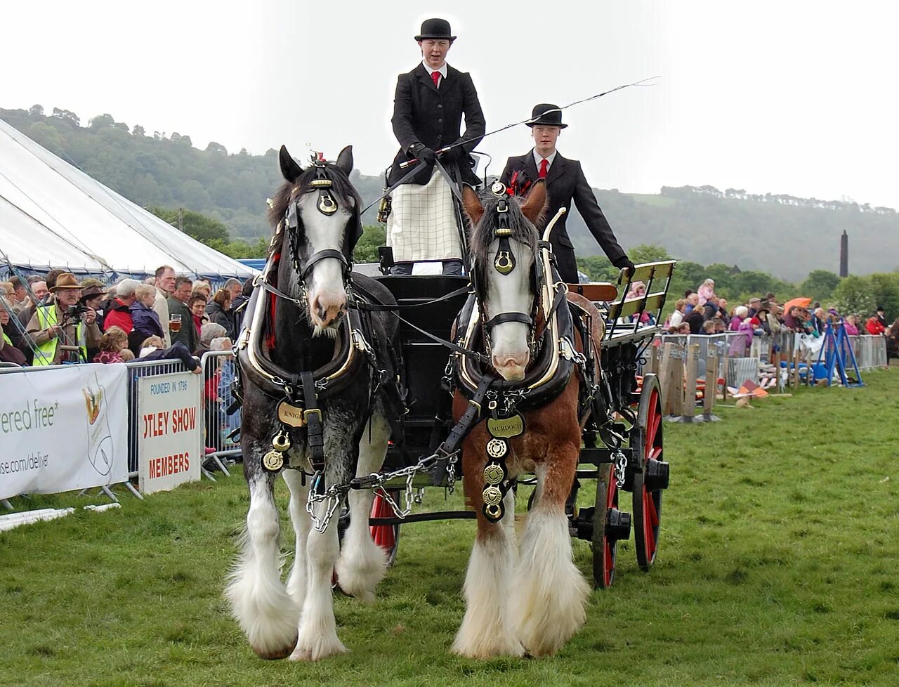
[[[221,459],[240,455],[240,413],[237,408],[231,415],[228,408],[235,398],[231,393],[231,383],[235,376],[234,353],[230,351],[209,351],[203,353],[200,367],[203,370],[203,441],[209,449],[209,459],[215,460],[225,469]],[[225,470],[227,472],[227,469]]]

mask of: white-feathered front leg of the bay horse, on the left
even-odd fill
[[[513,519],[513,513],[505,518]],[[465,575],[465,618],[452,649],[461,656],[522,656],[510,606],[518,595],[512,586],[512,540],[501,525],[489,536],[477,537]]]

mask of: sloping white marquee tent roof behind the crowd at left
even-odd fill
[[[183,234],[0,120],[0,250],[16,269],[218,281],[256,271]],[[0,254],[0,273],[8,272]]]

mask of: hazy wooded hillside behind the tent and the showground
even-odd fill
[[[265,199],[280,183],[277,154],[228,153],[218,143],[205,150],[189,136],[147,131],[102,114],[80,118],[40,105],[2,110],[3,118],[40,145],[144,206],[183,207],[218,219],[233,237],[267,235]],[[353,173],[366,202],[376,198],[377,176]],[[850,236],[850,272],[889,272],[899,266],[899,215],[888,208],[791,196],[750,195],[711,186],[663,187],[658,195],[597,191],[602,209],[625,248],[663,245],[696,263],[738,265],[799,281],[808,272],[839,268],[843,230]],[[374,210],[366,215],[374,223]],[[599,247],[580,216],[568,221],[578,254]]]

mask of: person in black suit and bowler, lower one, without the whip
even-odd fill
[[[510,157],[506,162],[503,175],[500,177],[506,186],[513,186],[516,193],[523,195],[530,184],[538,179],[546,179],[549,206],[547,208],[544,225],[539,227],[542,232],[546,223],[556,216],[559,208],[565,207],[571,211],[571,202],[581,213],[584,223],[590,229],[590,233],[601,245],[602,250],[609,256],[609,260],[619,269],[634,268],[634,263],[628,260],[628,255],[615,238],[609,222],[602,214],[596,196],[583,175],[581,163],[577,160],[569,160],[556,151],[556,140],[562,129],[567,124],[562,123],[562,112],[558,105],[540,103],[531,112],[530,121],[526,122],[534,137],[534,147],[526,155]],[[559,275],[569,283],[577,282],[577,263],[574,261],[574,245],[565,231],[566,212],[556,222],[553,233],[549,237],[553,245],[553,254],[556,255],[556,266]]]

